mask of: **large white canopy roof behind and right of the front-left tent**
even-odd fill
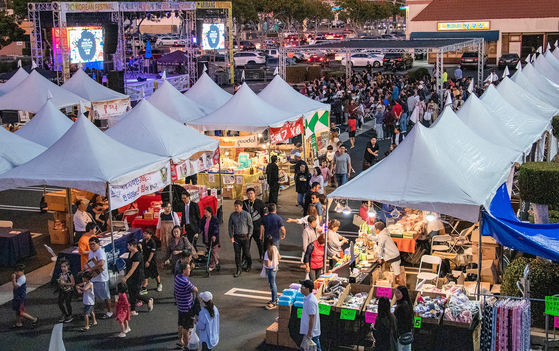
[[[219,141],[181,124],[140,101],[105,134],[136,150],[167,157],[174,163],[187,160],[201,151],[214,151]]]

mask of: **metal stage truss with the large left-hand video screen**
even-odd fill
[[[231,3],[229,8],[231,7]],[[194,43],[196,33],[195,2],[50,2],[28,3],[28,20],[31,23],[31,57],[39,67],[43,67],[45,50],[41,12],[52,13],[53,67],[62,72],[63,81],[70,79],[71,63],[103,62],[104,48],[116,39],[113,54],[113,69],[126,69],[126,43],[124,38],[124,18],[136,13],[148,17],[152,13],[180,12],[185,24],[185,52],[187,53],[186,73],[190,81],[197,78],[196,53]],[[68,25],[69,14],[108,14],[104,23],[85,23],[87,18],[73,20]],[[230,11],[229,11],[230,13]],[[106,22],[117,28],[115,33],[107,33]],[[103,26],[99,26],[99,25]],[[97,25],[97,26],[95,26]],[[112,51],[112,50],[111,50]]]

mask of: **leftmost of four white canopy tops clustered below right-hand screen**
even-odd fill
[[[181,94],[167,80],[148,98],[148,101],[167,116],[181,123],[206,115],[197,103]]]

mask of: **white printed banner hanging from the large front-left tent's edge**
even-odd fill
[[[111,210],[128,205],[143,195],[148,195],[163,189],[171,183],[171,169],[169,165],[160,170],[144,174],[124,185],[111,185]]]

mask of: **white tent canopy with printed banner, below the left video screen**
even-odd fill
[[[91,101],[94,117],[90,119],[107,119],[118,116],[130,109],[130,96],[104,87],[93,80],[81,68],[61,86],[85,101]]]

